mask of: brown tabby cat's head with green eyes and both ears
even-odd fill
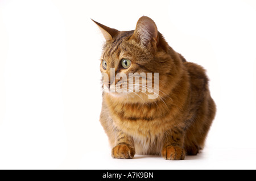
[[[104,94],[129,102],[155,101],[167,95],[180,72],[181,59],[158,32],[155,22],[142,16],[134,31],[95,23],[106,39],[100,66],[103,87],[108,92]]]

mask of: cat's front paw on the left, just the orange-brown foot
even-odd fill
[[[127,145],[117,145],[112,149],[113,158],[133,158],[135,154],[135,149]]]

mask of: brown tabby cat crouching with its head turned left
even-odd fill
[[[95,22],[95,21],[94,21]],[[159,73],[159,96],[148,92],[104,92],[100,122],[109,137],[113,158],[162,154],[164,159],[184,159],[203,149],[215,116],[204,68],[187,62],[158,32],[155,22],[142,16],[134,31],[118,31],[95,22],[106,43],[101,72]],[[121,80],[105,85],[117,85]],[[124,83],[124,81],[123,81]],[[129,82],[127,82],[129,85]]]

